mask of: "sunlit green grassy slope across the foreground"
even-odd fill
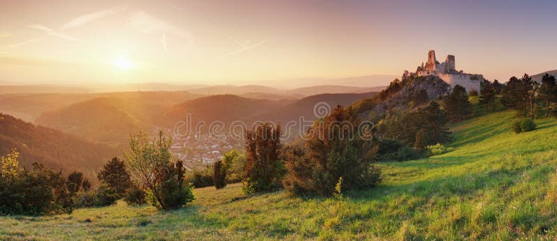
[[[238,184],[196,189],[173,212],[129,207],[0,217],[0,240],[554,239],[557,121],[514,134],[510,111],[451,127],[449,153],[379,164],[379,186],[334,198],[243,196]]]

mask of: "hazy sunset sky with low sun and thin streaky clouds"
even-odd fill
[[[0,0],[0,82],[280,86],[400,76],[430,49],[508,80],[557,69],[556,13],[557,1]]]

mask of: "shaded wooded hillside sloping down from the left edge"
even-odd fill
[[[96,182],[96,172],[104,162],[121,154],[120,150],[100,143],[0,114],[0,155],[6,155],[12,148],[17,148],[19,162],[24,166],[39,162],[54,169],[77,170],[92,182]]]

